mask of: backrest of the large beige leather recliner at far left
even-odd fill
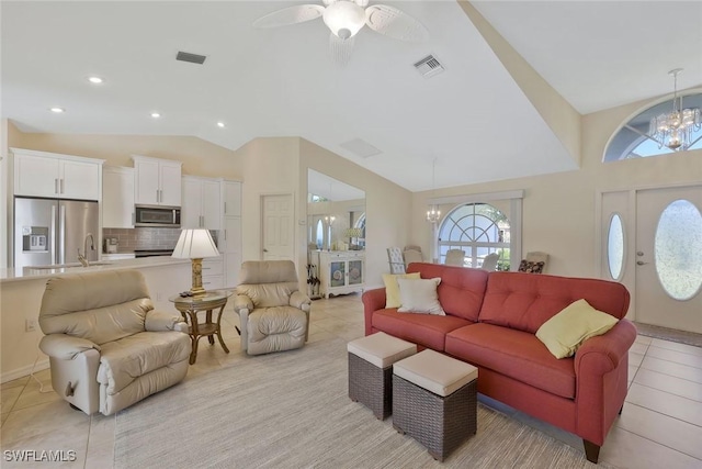
[[[67,334],[102,345],[145,330],[154,309],[138,270],[113,270],[50,278],[39,326],[44,334]]]

